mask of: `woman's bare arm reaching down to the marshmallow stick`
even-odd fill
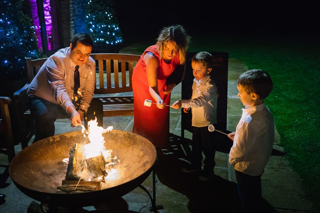
[[[144,61],[146,62],[147,69],[147,79],[149,84],[149,92],[152,98],[156,101],[157,107],[163,109],[163,100],[160,97],[158,89],[158,59],[150,54],[145,54],[143,56]]]

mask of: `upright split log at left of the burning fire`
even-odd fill
[[[79,180],[82,172],[85,170],[87,170],[87,168],[84,156],[84,145],[76,143],[69,152],[66,180]],[[83,177],[81,179],[85,180]]]

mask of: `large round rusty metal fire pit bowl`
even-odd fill
[[[102,190],[55,193],[66,178],[67,164],[62,160],[69,157],[76,143],[89,142],[81,131],[48,137],[23,149],[10,163],[10,177],[24,194],[44,203],[49,199],[56,206],[92,206],[121,197],[147,179],[156,161],[156,148],[146,138],[125,131],[112,130],[102,136],[106,149],[112,149],[113,156],[120,159],[119,178],[105,183]]]

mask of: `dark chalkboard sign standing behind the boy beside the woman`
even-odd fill
[[[211,78],[216,83],[218,90],[217,119],[218,123],[214,127],[219,131],[227,130],[227,95],[228,95],[228,53],[209,52],[213,57],[213,69]],[[181,98],[186,100],[192,96],[193,73],[191,59],[197,52],[188,52],[186,59],[186,72],[184,80],[181,82]],[[192,133],[192,114],[184,113],[181,109],[181,138],[184,138],[184,130]]]

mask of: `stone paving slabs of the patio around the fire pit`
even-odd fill
[[[132,53],[135,46],[123,49],[120,53]],[[129,50],[129,52],[127,51]],[[237,97],[236,78],[247,67],[241,61],[229,59],[228,66],[228,130],[235,131],[241,117],[243,107]],[[127,93],[128,95],[130,93]],[[172,91],[171,104],[181,98],[181,84]],[[132,131],[133,116],[104,118],[103,126],[113,126],[114,129]],[[165,158],[156,162],[156,205],[162,205],[160,213],[188,212],[239,212],[236,178],[234,168],[228,164],[228,153],[231,141],[224,142],[216,153],[215,175],[208,181],[200,181],[197,174],[181,172],[182,166],[188,163],[190,156],[191,133],[185,131],[185,140],[180,138],[180,110],[170,110],[170,146],[162,150]],[[59,119],[55,123],[55,134],[80,130],[71,128],[68,119]],[[222,134],[221,134],[222,135]],[[222,135],[221,137],[226,137]],[[29,145],[31,144],[30,140]],[[225,140],[222,140],[225,141]],[[283,149],[275,137],[274,150],[262,175],[262,195],[265,200],[265,212],[297,213],[312,212],[312,203],[308,200],[301,185],[299,176],[292,171]],[[21,145],[15,146],[15,151],[21,151]],[[0,212],[27,212],[33,199],[20,192],[8,175],[8,160],[0,154],[0,193],[6,195],[5,202],[0,203]],[[141,184],[152,195],[152,173]],[[90,198],[88,198],[90,199]],[[39,202],[35,202],[36,204]],[[151,200],[148,194],[137,187],[132,192],[112,201],[106,201],[99,206],[84,207],[76,212],[136,212],[149,213]],[[72,212],[70,209],[60,209],[59,212]]]

